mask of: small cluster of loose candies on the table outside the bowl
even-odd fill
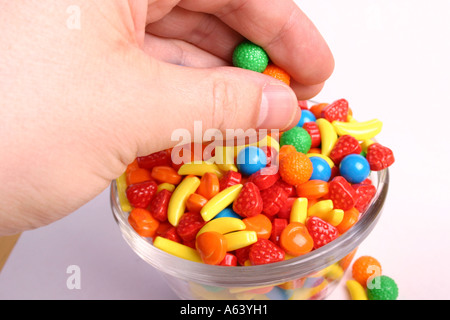
[[[347,289],[352,300],[396,300],[398,287],[395,281],[382,275],[381,264],[371,256],[355,260],[352,280],[347,281]]]

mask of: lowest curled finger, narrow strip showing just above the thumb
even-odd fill
[[[193,68],[226,66],[228,62],[190,43],[146,34],[143,50],[158,60]]]

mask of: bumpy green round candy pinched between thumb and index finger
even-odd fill
[[[269,64],[269,56],[260,46],[245,41],[233,52],[233,65],[238,68],[263,72]]]

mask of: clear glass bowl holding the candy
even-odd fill
[[[258,266],[212,266],[181,259],[152,245],[128,224],[121,209],[116,181],[111,207],[125,241],[168,285],[186,300],[310,300],[325,299],[339,284],[358,246],[375,227],[387,196],[389,171],[372,172],[377,192],[359,221],[329,244],[305,255]]]

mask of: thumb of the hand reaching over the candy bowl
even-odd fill
[[[293,90],[270,76],[233,67],[189,68],[152,60],[134,70],[136,97],[127,108],[134,156],[173,147],[174,130],[280,129],[295,126],[300,108]],[[150,59],[150,60],[149,60]],[[131,100],[133,101],[133,99]],[[137,101],[137,103],[136,103]],[[122,113],[125,114],[125,113]]]

